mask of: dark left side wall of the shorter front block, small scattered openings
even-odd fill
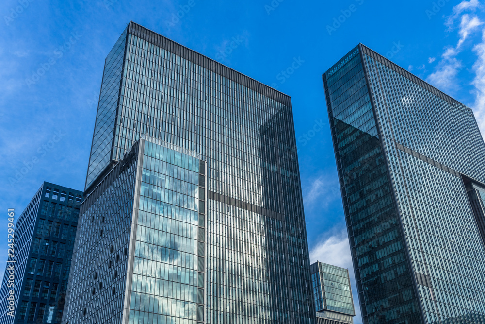
[[[138,147],[81,205],[63,323],[121,323]]]

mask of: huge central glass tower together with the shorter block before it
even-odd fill
[[[64,323],[315,323],[296,152],[289,96],[130,22]]]

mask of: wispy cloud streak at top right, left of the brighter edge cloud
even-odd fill
[[[458,72],[463,68],[462,61],[458,59],[458,54],[463,51],[464,44],[471,34],[478,31],[483,22],[476,16],[464,13],[465,11],[475,11],[480,7],[478,0],[463,1],[453,7],[453,14],[448,17],[445,25],[448,31],[452,31],[456,26],[456,21],[460,21],[458,35],[459,39],[455,46],[447,46],[441,55],[436,70],[431,73],[426,81],[443,91],[452,91],[457,89],[456,78]],[[435,58],[429,58],[430,63]]]

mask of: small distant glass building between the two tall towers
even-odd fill
[[[310,266],[317,324],[354,323],[349,271],[322,262]]]

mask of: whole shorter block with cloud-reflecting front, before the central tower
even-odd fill
[[[142,136],[81,206],[63,323],[206,318],[205,162]]]

